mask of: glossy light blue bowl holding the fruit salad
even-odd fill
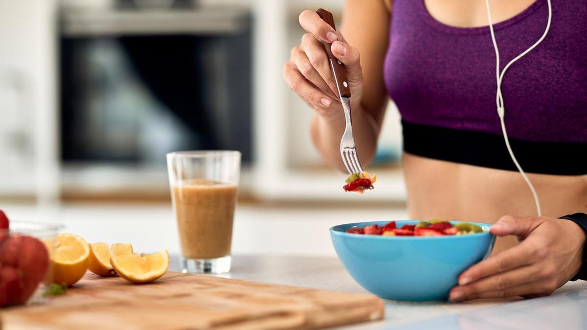
[[[383,299],[446,300],[458,275],[491,253],[495,236],[485,233],[447,236],[379,236],[346,230],[389,221],[330,228],[336,254],[357,283]],[[397,227],[419,221],[396,221]],[[457,224],[460,221],[451,221]],[[474,223],[488,228],[489,224]]]

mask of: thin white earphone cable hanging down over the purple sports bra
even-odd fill
[[[518,59],[521,59],[522,56],[526,55],[532,49],[536,48],[536,46],[538,46],[538,44],[541,43],[542,40],[544,40],[544,38],[546,38],[546,34],[548,33],[548,30],[550,29],[551,21],[552,21],[551,0],[547,0],[547,1],[548,1],[548,22],[546,23],[546,29],[544,30],[544,33],[542,34],[540,39],[538,39],[538,41],[534,43],[534,45],[530,46],[528,49],[524,50],[524,52],[522,52],[521,54],[516,56],[514,59],[512,59],[509,63],[507,63],[507,65],[505,65],[504,69],[500,73],[500,50],[497,48],[497,41],[495,41],[495,33],[493,31],[493,24],[491,22],[491,9],[489,6],[489,0],[485,0],[485,5],[487,6],[487,19],[489,20],[489,29],[491,31],[491,41],[493,42],[493,47],[495,49],[495,72],[496,72],[496,80],[497,80],[497,94],[495,95],[495,103],[497,103],[497,115],[500,116],[501,131],[504,135],[505,146],[507,147],[508,152],[510,153],[510,157],[511,157],[512,161],[514,161],[514,164],[517,167],[519,173],[522,174],[522,177],[524,178],[524,180],[528,184],[530,191],[532,191],[532,196],[534,196],[534,203],[536,204],[536,210],[537,210],[538,216],[542,215],[540,201],[538,200],[538,194],[536,193],[534,185],[532,185],[532,182],[530,181],[530,179],[528,179],[528,176],[526,175],[526,173],[524,173],[524,170],[522,170],[522,167],[519,165],[518,160],[515,158],[514,151],[512,151],[512,148],[510,146],[510,140],[508,139],[507,130],[505,129],[505,122],[504,122],[505,107],[504,107],[504,98],[501,95],[501,82],[504,79],[505,71],[508,68],[510,68],[510,66],[515,61],[517,61]]]

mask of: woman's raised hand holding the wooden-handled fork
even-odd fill
[[[345,65],[353,103],[360,102],[363,92],[359,51],[348,45],[340,32],[313,11],[303,11],[299,23],[308,33],[302,36],[298,46],[292,48],[284,65],[284,79],[319,115],[342,116],[338,90],[322,42],[332,43],[332,54]]]

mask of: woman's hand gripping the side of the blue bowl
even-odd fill
[[[549,295],[581,267],[585,233],[572,221],[506,215],[490,231],[520,243],[465,270],[450,291],[452,301]]]

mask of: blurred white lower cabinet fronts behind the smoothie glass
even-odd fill
[[[35,207],[4,204],[11,220],[65,225],[63,232],[80,235],[90,243],[131,243],[135,251],[167,249],[178,254],[180,244],[171,203],[87,203]],[[336,255],[328,229],[359,221],[406,219],[405,208],[291,205],[237,206],[232,234],[234,254]]]

